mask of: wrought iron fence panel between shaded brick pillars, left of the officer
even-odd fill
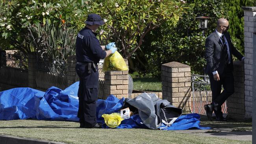
[[[67,75],[67,61],[37,56],[37,70],[54,74]]]

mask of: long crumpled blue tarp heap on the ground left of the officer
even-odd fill
[[[79,121],[78,86],[65,90],[50,87],[46,92],[15,88],[0,92],[0,120],[37,118],[38,120]]]

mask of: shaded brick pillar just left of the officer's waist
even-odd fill
[[[76,55],[71,55],[68,57],[68,69],[67,69],[67,79],[68,87],[76,82]]]

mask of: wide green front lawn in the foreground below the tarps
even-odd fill
[[[203,116],[203,120],[206,116]],[[251,130],[251,122],[209,122],[202,125],[211,127],[235,127]],[[151,129],[81,129],[78,122],[44,120],[0,120],[0,134],[37,138],[71,144],[251,144],[224,138],[205,137]],[[193,130],[191,130],[193,131]],[[212,131],[209,129],[209,131]]]

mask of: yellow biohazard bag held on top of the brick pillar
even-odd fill
[[[114,54],[111,54],[104,59],[102,72],[124,70],[128,70],[128,66],[119,52],[115,51]]]

